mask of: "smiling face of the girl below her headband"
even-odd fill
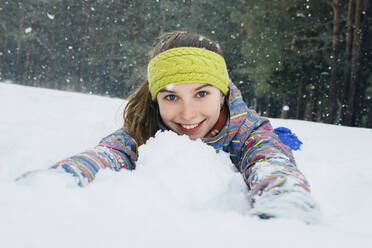
[[[184,83],[162,89],[157,101],[164,124],[195,140],[206,136],[216,124],[224,95],[209,84]]]

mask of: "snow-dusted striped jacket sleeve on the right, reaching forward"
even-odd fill
[[[257,197],[272,194],[273,188],[275,194],[298,190],[308,194],[309,184],[298,170],[290,148],[281,143],[269,120],[259,123],[246,139],[238,164],[250,190],[251,208]]]

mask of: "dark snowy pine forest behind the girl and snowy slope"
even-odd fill
[[[126,98],[173,30],[217,41],[261,115],[372,128],[368,0],[0,0],[0,81]]]

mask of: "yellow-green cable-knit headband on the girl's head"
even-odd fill
[[[152,99],[168,84],[207,83],[229,90],[229,76],[224,58],[212,51],[196,47],[178,47],[155,56],[147,67]]]

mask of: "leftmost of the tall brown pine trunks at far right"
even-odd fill
[[[332,60],[331,60],[331,82],[328,93],[328,123],[334,123],[337,113],[337,61],[339,54],[339,36],[340,36],[340,7],[341,1],[334,0],[332,3],[333,9],[333,35],[332,35]]]

